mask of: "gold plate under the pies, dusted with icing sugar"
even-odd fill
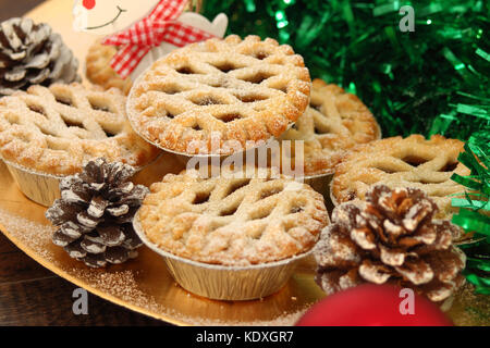
[[[29,12],[62,34],[81,61],[95,37],[72,29],[72,1],[50,0]],[[82,70],[81,70],[82,71]],[[137,174],[145,185],[183,169],[177,156],[164,153]],[[0,162],[0,229],[30,258],[61,277],[111,302],[177,325],[292,325],[324,294],[316,285],[315,262],[302,261],[279,293],[261,300],[218,301],[195,296],[175,284],[162,258],[142,247],[139,257],[121,265],[89,269],[51,243],[46,208],[24,197]],[[456,296],[450,316],[458,325],[490,325],[489,301],[466,287]]]

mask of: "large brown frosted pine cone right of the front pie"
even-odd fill
[[[464,283],[465,258],[452,246],[460,228],[432,220],[437,210],[419,189],[384,185],[364,203],[336,207],[315,250],[317,283],[328,295],[368,282],[446,299]]]

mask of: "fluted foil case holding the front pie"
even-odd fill
[[[208,264],[177,257],[150,243],[139,224],[138,213],[133,226],[142,241],[163,258],[179,285],[216,300],[253,300],[272,295],[287,283],[297,263],[313,252],[311,249],[281,261],[249,266]]]

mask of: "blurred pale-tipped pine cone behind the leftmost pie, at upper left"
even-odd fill
[[[78,80],[78,61],[59,34],[29,18],[10,18],[0,25],[0,96],[30,85]]]

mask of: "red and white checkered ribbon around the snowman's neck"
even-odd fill
[[[122,78],[126,78],[151,48],[160,46],[162,41],[183,47],[215,37],[175,21],[187,1],[161,0],[147,17],[102,40],[103,45],[121,47],[113,57],[111,66]]]

